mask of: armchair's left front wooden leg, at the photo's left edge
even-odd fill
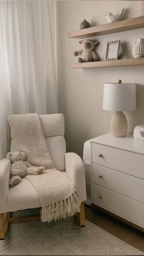
[[[0,240],[5,239],[5,233],[9,226],[10,213],[6,213],[4,218],[4,213],[0,213]]]

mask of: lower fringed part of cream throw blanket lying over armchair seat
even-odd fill
[[[41,221],[50,222],[73,216],[80,211],[81,200],[65,171],[45,170],[41,175],[27,175],[41,203]]]

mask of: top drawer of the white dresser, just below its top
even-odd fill
[[[138,153],[92,143],[92,162],[144,179],[144,155]]]

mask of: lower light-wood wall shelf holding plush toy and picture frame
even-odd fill
[[[98,67],[118,67],[144,65],[144,57],[139,59],[119,59],[119,60],[103,60],[95,62],[71,63],[69,68],[98,68]]]

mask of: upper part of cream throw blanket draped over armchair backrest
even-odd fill
[[[54,168],[39,115],[37,113],[9,115],[8,122],[12,138],[11,152],[26,152],[27,161],[33,166]]]

